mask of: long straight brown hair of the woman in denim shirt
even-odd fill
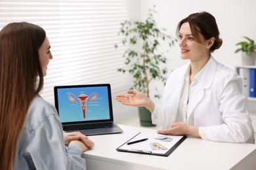
[[[0,169],[12,169],[28,108],[43,88],[38,50],[45,36],[27,22],[8,24],[0,32]]]

